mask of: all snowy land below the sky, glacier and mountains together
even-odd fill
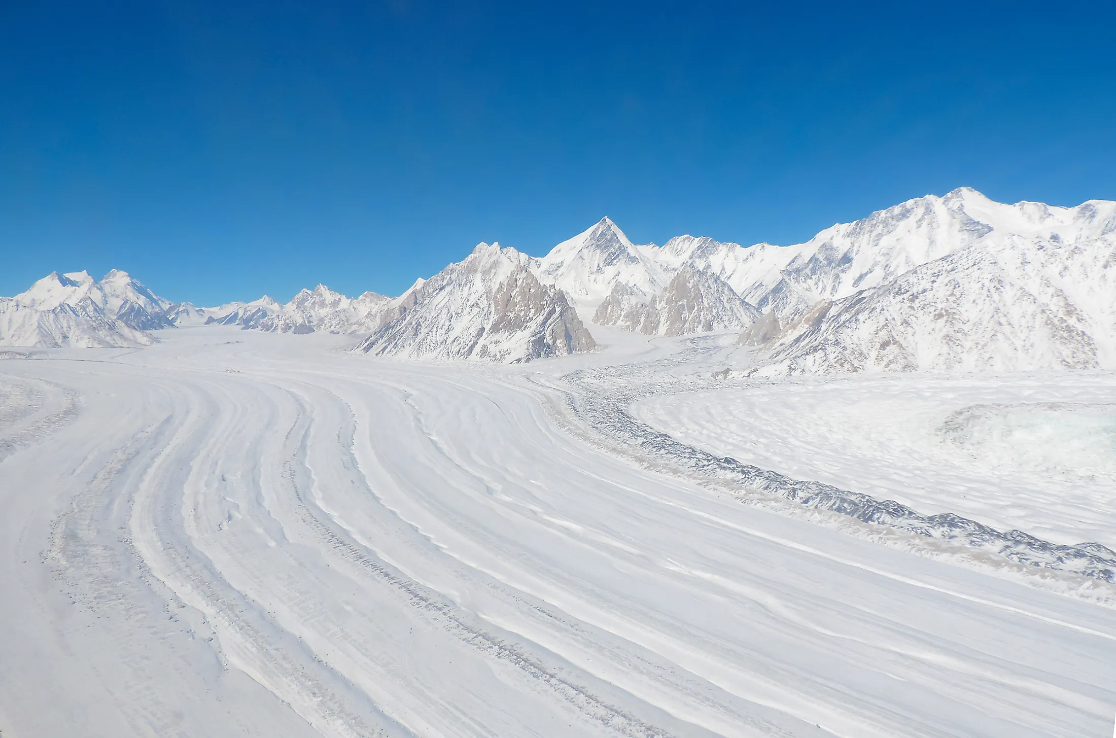
[[[0,298],[0,736],[1104,736],[1116,202]]]

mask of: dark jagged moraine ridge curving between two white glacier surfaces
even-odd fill
[[[695,346],[692,351],[701,353],[712,348]],[[672,363],[677,361],[677,357],[670,360]],[[631,405],[641,397],[701,389],[700,380],[692,376],[674,378],[664,368],[636,364],[575,372],[564,377],[573,387],[567,403],[581,423],[610,443],[636,450],[646,463],[656,467],[665,460],[687,472],[776,495],[807,508],[830,510],[864,523],[962,544],[1032,566],[1116,583],[1116,552],[1098,543],[1056,544],[1018,529],[997,530],[951,511],[924,515],[892,499],[879,500],[834,485],[796,479],[679,441],[670,433],[637,421],[629,412]],[[712,384],[705,389],[710,386]],[[716,402],[716,399],[714,392],[706,402]]]

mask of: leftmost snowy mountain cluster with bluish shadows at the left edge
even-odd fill
[[[165,300],[127,272],[100,281],[85,271],[51,272],[30,289],[0,298],[0,345],[39,347],[147,346],[147,330],[173,325]]]

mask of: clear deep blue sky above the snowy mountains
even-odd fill
[[[1116,3],[0,3],[0,295],[391,295],[499,240],[1116,199]]]

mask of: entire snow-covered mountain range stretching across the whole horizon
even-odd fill
[[[760,371],[1116,367],[1116,202],[1003,204],[962,188],[805,243],[633,243],[608,218],[545,257],[480,245],[396,298],[324,285],[287,304],[172,304],[122,271],[52,274],[0,298],[0,344],[145,345],[220,324],[366,335],[374,355],[520,362],[588,351],[583,324],[740,332]],[[580,315],[578,315],[580,313]]]

